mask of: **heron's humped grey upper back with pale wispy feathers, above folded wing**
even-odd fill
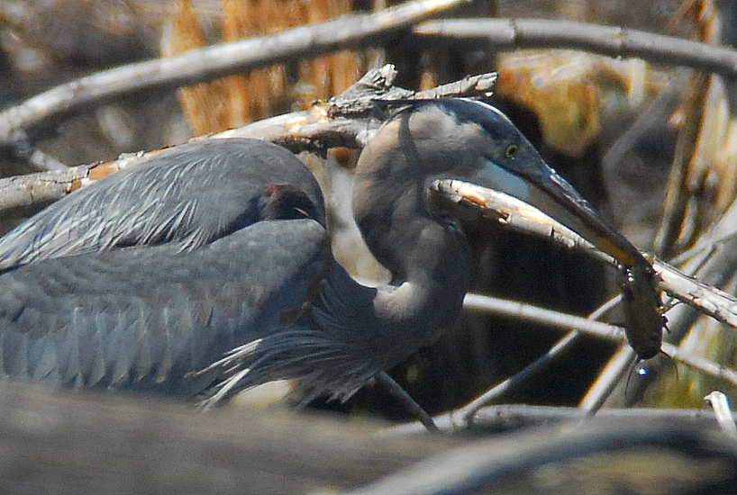
[[[286,148],[210,139],[162,151],[51,204],[0,239],[0,270],[132,246],[193,250],[259,219],[259,196],[290,184],[325,224],[314,175]]]

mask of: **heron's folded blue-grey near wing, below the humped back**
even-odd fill
[[[234,347],[300,320],[332,266],[314,220],[259,221],[194,251],[127,247],[0,275],[0,372],[177,395]]]

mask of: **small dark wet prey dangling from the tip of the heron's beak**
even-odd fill
[[[640,359],[658,354],[663,341],[666,318],[654,276],[651,266],[622,266],[619,272],[624,334]]]

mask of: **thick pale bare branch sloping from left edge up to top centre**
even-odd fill
[[[177,57],[157,58],[82,77],[0,112],[0,146],[13,147],[18,130],[28,130],[50,117],[123,94],[189,85],[287,59],[376,44],[397,30],[464,1],[414,0],[376,14],[348,14],[328,23],[194,49]]]

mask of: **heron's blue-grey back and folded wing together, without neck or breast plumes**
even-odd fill
[[[301,308],[329,255],[314,176],[245,139],[164,151],[51,205],[2,248],[5,374],[181,395],[209,385],[189,374]]]

